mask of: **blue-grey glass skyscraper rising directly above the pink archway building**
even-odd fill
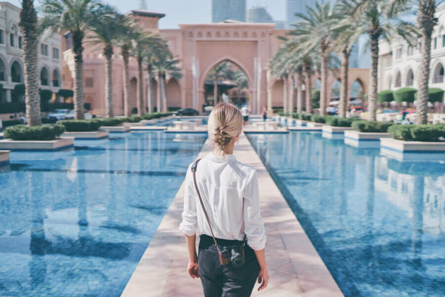
[[[213,0],[212,22],[246,21],[246,0]]]

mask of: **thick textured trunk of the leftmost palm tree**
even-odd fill
[[[20,27],[23,32],[26,119],[30,126],[41,125],[39,76],[37,71],[37,13],[34,8],[34,0],[22,1]]]

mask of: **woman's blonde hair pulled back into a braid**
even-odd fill
[[[238,107],[229,103],[220,103],[209,115],[207,128],[209,137],[215,143],[215,148],[221,151],[224,156],[224,148],[232,140],[238,136],[243,126],[243,116]]]

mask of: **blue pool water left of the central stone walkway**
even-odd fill
[[[120,296],[205,139],[111,133],[69,151],[11,152],[0,296]]]

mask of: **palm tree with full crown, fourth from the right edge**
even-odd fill
[[[326,91],[329,52],[336,38],[333,27],[340,20],[338,5],[329,2],[316,2],[315,6],[306,7],[306,13],[296,13],[302,20],[297,22],[290,34],[299,42],[301,49],[310,52],[318,49],[321,58],[320,114],[326,113]]]

